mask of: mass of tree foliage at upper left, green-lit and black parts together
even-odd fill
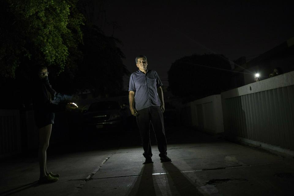
[[[104,2],[101,0],[101,5]],[[0,1],[0,90],[5,92],[0,108],[19,108],[30,96],[36,65],[47,66],[57,92],[90,89],[97,96],[121,92],[123,75],[128,71],[117,46],[120,42],[87,21],[80,3]]]

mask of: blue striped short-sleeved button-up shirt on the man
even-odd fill
[[[141,110],[150,106],[160,106],[157,88],[162,86],[158,74],[154,70],[147,70],[144,74],[140,70],[130,76],[129,91],[135,92],[134,108]]]

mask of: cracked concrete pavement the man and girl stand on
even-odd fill
[[[292,160],[192,130],[167,138],[171,163],[156,146],[146,165],[141,146],[48,156],[51,184],[36,184],[36,158],[1,161],[0,195],[293,195]]]

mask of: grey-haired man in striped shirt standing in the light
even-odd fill
[[[154,70],[147,69],[147,58],[143,55],[136,57],[136,65],[139,68],[130,76],[129,101],[130,111],[136,116],[141,134],[145,162],[152,162],[152,152],[149,129],[152,124],[157,140],[161,162],[169,162],[167,156],[167,142],[164,132],[164,99],[162,83]]]

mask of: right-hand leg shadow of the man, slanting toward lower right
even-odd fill
[[[183,173],[171,162],[162,163],[167,173],[168,184],[172,195],[203,195]]]

